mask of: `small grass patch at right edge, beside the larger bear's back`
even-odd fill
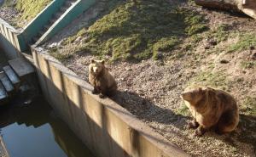
[[[256,116],[256,97],[247,97],[241,104],[241,112]]]

